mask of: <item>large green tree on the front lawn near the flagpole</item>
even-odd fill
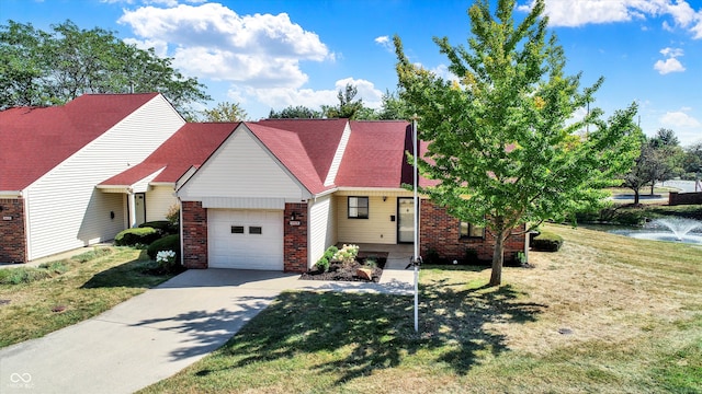
[[[499,0],[492,16],[477,0],[468,10],[468,48],[434,37],[455,81],[411,63],[394,38],[400,97],[429,142],[420,172],[437,181],[421,192],[495,236],[490,286],[501,283],[503,244],[516,229],[599,206],[601,187],[631,167],[638,149],[635,104],[609,120],[600,108],[573,120],[603,80],[580,91],[580,74],[564,74],[563,49],[546,37],[543,0],[518,25],[514,8],[514,0]]]

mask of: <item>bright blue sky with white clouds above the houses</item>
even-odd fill
[[[496,0],[495,0],[496,1]],[[495,2],[492,1],[492,2]],[[524,15],[532,0],[518,0]],[[67,19],[174,58],[218,102],[251,119],[288,105],[336,104],[347,83],[367,106],[395,91],[392,37],[411,61],[451,78],[433,36],[465,44],[472,1],[439,0],[0,0],[0,21],[48,30]],[[672,129],[702,142],[702,0],[546,0],[550,25],[568,59],[604,85],[595,105],[608,115],[636,101],[648,135]]]

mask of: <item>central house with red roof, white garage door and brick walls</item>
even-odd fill
[[[407,121],[239,124],[178,181],[183,264],[304,271],[337,243],[411,243],[416,212],[420,254],[489,259],[489,233],[424,198],[415,208],[411,147]],[[523,250],[523,235],[506,242],[507,258]]]

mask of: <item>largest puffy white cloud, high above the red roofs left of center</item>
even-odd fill
[[[252,88],[299,88],[308,80],[301,61],[335,59],[317,34],[285,13],[238,15],[218,3],[149,5],[125,10],[118,23],[141,37],[133,43],[157,44],[161,54],[169,48],[185,74]]]

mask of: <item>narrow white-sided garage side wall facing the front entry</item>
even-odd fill
[[[308,268],[324,255],[327,247],[337,243],[336,204],[331,195],[320,197],[309,207]]]

